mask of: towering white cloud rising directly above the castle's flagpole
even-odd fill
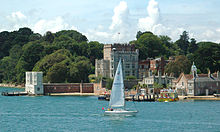
[[[89,40],[101,41],[104,43],[126,43],[133,40],[136,35],[136,26],[130,18],[130,12],[125,1],[121,1],[114,8],[112,22],[108,29],[99,25],[95,30],[89,30]]]

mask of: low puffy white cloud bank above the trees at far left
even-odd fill
[[[68,24],[64,21],[63,17],[57,16],[53,19],[39,19],[38,16],[33,14],[37,14],[36,10],[32,10],[32,13],[27,13],[29,15],[25,15],[20,11],[12,12],[10,15],[6,16],[6,21],[8,25],[5,27],[1,27],[0,31],[4,29],[8,31],[18,30],[22,27],[29,27],[34,32],[45,34],[47,31],[57,32],[60,30],[77,30],[76,26],[72,24]],[[32,23],[30,21],[32,20]],[[3,29],[4,28],[4,29]]]

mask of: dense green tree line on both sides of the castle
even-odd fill
[[[220,44],[197,43],[186,31],[175,42],[168,36],[139,31],[129,43],[139,49],[139,60],[175,56],[166,72],[176,77],[189,73],[192,62],[201,73],[220,70]],[[74,30],[48,31],[43,36],[27,27],[0,32],[0,82],[24,83],[26,71],[43,71],[44,82],[89,82],[95,59],[103,58],[103,46]]]

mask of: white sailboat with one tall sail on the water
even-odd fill
[[[123,80],[122,64],[120,59],[112,85],[109,108],[105,111],[105,115],[112,115],[112,114],[134,115],[137,112],[138,111],[129,111],[125,109],[124,80]]]

